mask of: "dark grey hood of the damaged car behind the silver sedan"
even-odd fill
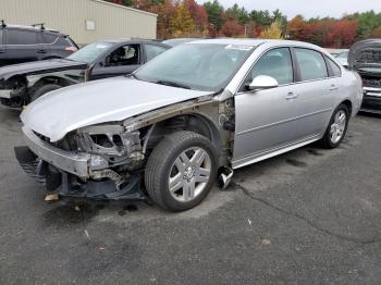
[[[8,80],[14,75],[33,75],[74,69],[85,70],[87,69],[87,63],[65,59],[52,59],[12,64],[0,69],[0,79]]]

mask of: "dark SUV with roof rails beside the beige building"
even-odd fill
[[[61,59],[76,51],[76,44],[64,34],[42,24],[14,26],[0,23],[0,67],[46,59]]]

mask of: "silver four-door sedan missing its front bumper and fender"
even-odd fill
[[[362,98],[357,73],[317,46],[181,45],[128,77],[57,90],[21,115],[21,165],[60,197],[198,205],[220,171],[320,140],[335,148]],[[140,176],[146,188],[140,189]]]

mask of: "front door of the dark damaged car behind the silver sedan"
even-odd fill
[[[95,64],[91,80],[131,74],[142,65],[142,62],[140,44],[120,46]]]

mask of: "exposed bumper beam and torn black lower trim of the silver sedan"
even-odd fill
[[[15,157],[23,170],[44,184],[48,191],[64,198],[95,200],[144,200],[140,176],[131,175],[122,185],[110,178],[88,179],[94,156],[61,150],[24,127],[27,147],[15,147]],[[82,177],[83,179],[78,179]],[[85,182],[84,182],[85,181]]]

